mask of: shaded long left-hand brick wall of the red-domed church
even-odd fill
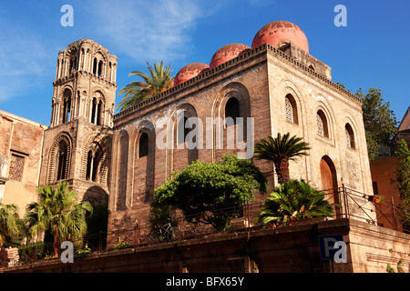
[[[220,72],[209,79],[204,80],[199,84],[183,87],[175,94],[170,94],[167,98],[158,100],[155,103],[139,108],[129,115],[118,115],[115,121],[113,135],[113,162],[111,176],[111,192],[109,209],[111,216],[115,219],[110,219],[108,224],[109,230],[118,229],[122,226],[118,218],[118,206],[124,199],[124,191],[126,191],[126,214],[136,212],[140,213],[142,208],[149,207],[149,202],[152,201],[152,190],[160,186],[175,170],[181,170],[188,166],[192,161],[199,159],[201,162],[220,161],[221,157],[226,154],[244,153],[240,146],[235,144],[231,149],[227,148],[227,135],[232,132],[227,128],[222,128],[223,131],[223,148],[216,149],[217,140],[211,127],[207,125],[207,118],[225,118],[225,104],[228,99],[234,96],[240,101],[240,114],[246,117],[254,118],[254,136],[248,137],[250,141],[259,140],[260,138],[269,135],[270,129],[270,113],[268,83],[267,83],[267,66],[266,59],[255,57],[250,62],[242,65],[235,65],[228,71]],[[198,139],[201,143],[198,145],[200,149],[188,149],[187,144],[178,143],[178,113],[184,111],[187,117],[198,117],[201,121],[202,137]],[[168,127],[161,127],[158,122],[162,117],[169,117]],[[247,125],[248,126],[248,125]],[[251,126],[251,124],[249,125]],[[232,126],[233,131],[238,125]],[[138,158],[138,137],[140,132],[145,130],[149,133],[149,145],[154,147],[153,152],[149,156]],[[246,130],[245,130],[246,133]],[[127,145],[122,145],[124,137],[128,136]],[[169,145],[161,148],[161,139],[169,141]],[[241,143],[243,146],[245,143]],[[253,143],[250,144],[251,156],[253,152]],[[182,146],[179,149],[179,146]],[[128,147],[128,153],[120,150],[122,147]],[[127,155],[128,154],[128,155]],[[124,161],[126,159],[126,161]],[[149,162],[149,166],[147,163]],[[124,165],[128,165],[127,173],[124,173]],[[255,164],[261,166],[261,170],[267,176],[272,177],[272,165],[263,161],[255,161]],[[124,177],[127,174],[127,178]],[[153,182],[144,179],[144,176],[150,176]],[[127,181],[126,187],[124,183]],[[122,185],[121,185],[122,183]],[[149,192],[145,195],[145,199],[141,199],[141,191],[147,189],[147,183],[153,184],[154,187],[149,187]],[[271,183],[272,185],[272,183]],[[126,189],[124,189],[126,188]],[[120,199],[120,202],[118,202]],[[132,210],[133,209],[133,210]],[[144,211],[146,213],[146,211]],[[136,215],[134,215],[136,216]],[[137,215],[140,223],[147,222],[147,216]],[[113,226],[111,223],[118,221],[118,225]]]

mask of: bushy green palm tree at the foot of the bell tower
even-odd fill
[[[58,256],[59,243],[80,239],[87,233],[86,217],[92,215],[89,202],[77,204],[77,194],[68,189],[67,182],[56,186],[41,186],[39,203],[27,206],[26,224],[31,236],[48,230],[54,237],[54,256]]]

